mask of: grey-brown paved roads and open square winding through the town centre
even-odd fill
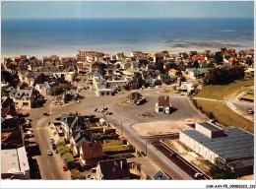
[[[102,117],[101,113],[95,112],[94,109],[107,106],[113,115],[107,115],[105,118],[109,121],[115,122],[117,124],[117,129],[121,131],[120,123],[122,121],[122,134],[128,139],[132,145],[134,145],[140,151],[145,152],[146,142],[147,142],[147,155],[156,164],[159,165],[160,169],[169,174],[173,179],[192,179],[174,163],[172,163],[168,158],[162,155],[155,147],[150,145],[153,139],[143,138],[138,135],[133,129],[131,129],[131,124],[139,122],[152,122],[152,121],[163,121],[163,120],[179,120],[187,118],[201,117],[190,105],[187,97],[185,95],[170,95],[170,102],[173,107],[176,108],[172,114],[156,118],[140,118],[136,114],[143,110],[147,110],[155,106],[158,100],[159,94],[157,94],[159,89],[147,89],[140,91],[142,95],[145,95],[148,102],[143,105],[136,106],[124,106],[119,103],[120,100],[124,99],[130,93],[125,93],[115,96],[100,96],[96,97],[91,93],[90,90],[83,90],[81,95],[85,95],[84,99],[81,99],[81,103],[76,101],[71,101],[67,104],[61,106],[51,105],[52,114],[49,117],[43,117],[43,112],[49,112],[50,102],[52,96],[47,96],[48,100],[44,107],[34,108],[30,111],[30,118],[32,121],[32,128],[34,129],[35,138],[39,144],[41,156],[37,156],[37,162],[39,165],[39,170],[41,172],[42,179],[70,179],[69,172],[63,172],[62,159],[59,155],[53,155],[53,157],[48,157],[45,153],[47,149],[50,149],[49,139],[52,138],[48,129],[43,129],[47,127],[47,123],[54,121],[56,117],[59,117],[62,113],[76,112],[83,114],[96,114],[98,117]],[[119,123],[119,124],[118,124]],[[119,125],[119,128],[118,128]],[[38,129],[40,128],[40,129]],[[168,136],[163,137],[166,139]],[[160,140],[160,137],[157,137]]]

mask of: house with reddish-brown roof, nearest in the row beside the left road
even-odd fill
[[[104,157],[100,141],[85,142],[80,145],[80,161],[81,165],[95,166],[99,160]]]

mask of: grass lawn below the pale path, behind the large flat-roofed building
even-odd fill
[[[213,112],[218,122],[226,126],[242,128],[254,133],[254,123],[234,113],[224,103],[208,100],[196,100],[204,112]]]

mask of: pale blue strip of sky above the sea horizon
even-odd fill
[[[253,18],[253,1],[5,1],[5,18]]]

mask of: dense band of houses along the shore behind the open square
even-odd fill
[[[235,52],[234,49],[220,48],[218,52],[205,50],[178,54],[170,54],[166,50],[155,54],[132,51],[130,56],[124,53],[110,56],[96,50],[79,50],[75,57],[52,55],[43,56],[42,59],[21,55],[4,59],[2,69],[17,77],[2,91],[7,91],[4,94],[9,94],[18,108],[31,108],[35,105],[32,95],[35,91],[40,95],[54,95],[55,87],[65,83],[74,84],[79,74],[85,74],[85,83],[92,85],[96,95],[114,95],[123,89],[168,85],[183,79],[183,76],[193,80],[202,78],[209,72],[208,65],[213,63],[216,53],[224,57],[224,62],[222,65],[214,63],[214,66],[243,65],[254,68],[253,49]],[[6,89],[10,86],[16,90],[12,94]]]

